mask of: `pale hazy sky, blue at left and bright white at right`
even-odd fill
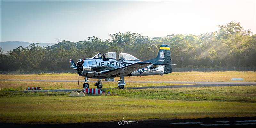
[[[199,35],[230,21],[256,34],[255,0],[1,0],[0,4],[0,42],[56,43],[56,38],[77,42],[90,36],[104,40],[127,31],[151,38]]]

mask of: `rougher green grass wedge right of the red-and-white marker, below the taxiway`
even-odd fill
[[[107,90],[108,91],[108,90]],[[159,100],[230,101],[256,103],[256,86],[114,89],[118,96]]]

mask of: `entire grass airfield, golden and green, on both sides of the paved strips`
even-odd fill
[[[126,87],[178,85],[161,81],[256,81],[255,72],[176,72],[163,76],[126,77]],[[0,75],[0,79],[76,80],[76,74]],[[80,79],[81,80],[81,79]],[[93,79],[92,79],[93,80]],[[90,88],[94,83],[89,82]],[[111,96],[68,97],[68,92],[4,92],[81,88],[76,82],[0,81],[0,123],[79,123],[126,119],[188,119],[205,117],[256,116],[256,86],[190,87],[165,89],[108,89],[116,82],[105,82]],[[186,86],[187,84],[181,84]]]

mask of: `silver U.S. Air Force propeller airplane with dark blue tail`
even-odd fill
[[[120,77],[118,80],[118,87],[124,88],[124,76],[147,76],[147,75],[163,75],[172,72],[170,46],[161,45],[158,55],[154,59],[141,61],[136,57],[127,54],[119,53],[116,59],[115,52],[106,53],[106,61],[102,60],[101,53],[98,53],[89,59],[80,59],[75,64],[73,60],[69,60],[72,64],[70,67],[77,70],[79,76],[84,78],[84,88],[89,88],[86,83],[88,78],[98,79],[94,84],[97,88],[102,88],[101,79],[105,81],[114,81],[114,77]],[[77,76],[78,76],[77,75]],[[79,85],[79,81],[78,81]]]

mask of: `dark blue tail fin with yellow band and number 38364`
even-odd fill
[[[145,62],[150,62],[154,64],[171,64],[171,53],[169,45],[161,45],[157,57],[154,59],[146,60]],[[171,73],[171,65],[165,65],[164,74]]]

